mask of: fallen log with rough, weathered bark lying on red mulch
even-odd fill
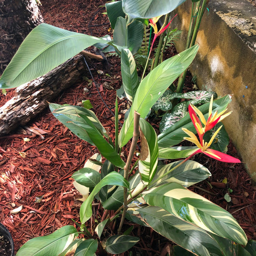
[[[38,79],[21,85],[15,96],[0,108],[0,135],[25,125],[48,107],[47,101],[82,81],[85,75],[82,55],[77,55]]]

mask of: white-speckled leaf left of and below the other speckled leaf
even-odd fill
[[[174,125],[176,122],[179,122],[188,113],[187,112],[188,105],[189,105],[188,101],[183,101],[177,104],[173,108],[171,113],[164,114],[159,124],[160,132],[163,133],[172,125]]]

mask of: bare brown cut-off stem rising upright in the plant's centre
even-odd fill
[[[132,159],[134,157],[134,152],[135,152],[135,148],[137,145],[137,141],[140,135],[140,131],[139,131],[139,121],[140,121],[140,114],[136,111],[134,111],[134,134],[133,134],[133,140],[132,140],[132,144],[130,147],[130,152],[126,161],[126,164],[124,166],[124,179],[126,179],[128,181],[129,178],[129,171],[131,168],[131,163],[132,163]],[[118,228],[118,233],[121,232],[122,230],[122,225],[125,219],[125,214],[127,211],[127,188],[124,187],[123,188],[123,212],[122,212],[122,219]]]

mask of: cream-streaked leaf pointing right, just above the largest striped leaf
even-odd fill
[[[204,181],[211,176],[210,171],[206,167],[192,160],[187,160],[181,166],[165,175],[168,171],[170,171],[172,168],[175,168],[180,163],[182,163],[182,160],[158,166],[155,177],[151,183],[152,185],[150,184],[149,188],[171,182],[179,183],[184,187],[189,187],[195,183]],[[158,180],[158,178],[162,177],[163,175],[165,176]],[[155,183],[156,180],[158,181]]]

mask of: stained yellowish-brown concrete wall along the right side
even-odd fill
[[[205,12],[196,42],[198,54],[190,71],[200,88],[218,96],[232,94],[223,123],[243,162],[256,181],[256,8],[247,0],[212,0]],[[183,31],[176,42],[183,51],[190,21],[191,0],[173,14],[172,26]]]

